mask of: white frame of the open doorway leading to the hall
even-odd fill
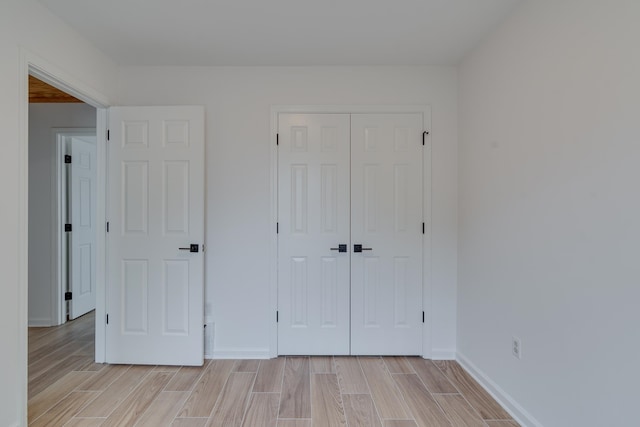
[[[27,425],[28,390],[28,290],[29,290],[29,75],[60,89],[96,108],[97,152],[97,200],[96,221],[106,223],[106,136],[108,98],[64,69],[41,56],[20,47],[19,49],[18,106],[18,375],[22,378],[18,394],[20,419]],[[105,318],[105,256],[106,236],[98,233],[96,248],[96,319]],[[96,321],[95,358],[102,363],[105,356],[105,322]]]

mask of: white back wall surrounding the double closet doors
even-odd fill
[[[215,354],[265,354],[269,308],[270,107],[430,104],[433,141],[433,348],[456,329],[457,73],[429,67],[122,68],[125,105],[206,108],[206,312]]]

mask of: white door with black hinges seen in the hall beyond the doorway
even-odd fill
[[[75,319],[96,308],[96,141],[71,137],[69,259],[72,298],[69,317]]]

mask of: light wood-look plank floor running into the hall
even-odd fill
[[[30,426],[513,427],[456,362],[418,357],[93,363],[92,314],[29,329]]]

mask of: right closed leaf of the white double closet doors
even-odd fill
[[[352,354],[422,354],[422,129],[351,115]]]

